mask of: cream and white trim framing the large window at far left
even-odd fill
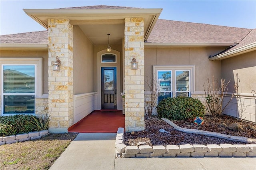
[[[0,89],[1,89],[1,115],[3,115],[3,76],[2,76],[2,71],[3,71],[3,66],[4,65],[35,65],[35,98],[36,97],[41,97],[43,95],[43,65],[42,65],[43,59],[41,57],[1,57],[0,58],[0,76],[1,76],[1,84],[0,84]],[[24,93],[26,94],[26,93]],[[31,94],[31,93],[30,93]],[[36,109],[35,109],[36,111]],[[7,115],[7,114],[5,114]],[[12,115],[12,114],[8,114]]]

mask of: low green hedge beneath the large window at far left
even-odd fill
[[[0,117],[0,136],[10,136],[35,131],[30,122],[32,115],[12,115]]]

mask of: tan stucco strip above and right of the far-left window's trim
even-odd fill
[[[1,51],[1,57],[42,57],[43,93],[48,94],[48,51]]]

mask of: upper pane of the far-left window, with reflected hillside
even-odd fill
[[[34,65],[4,65],[4,93],[35,93]]]

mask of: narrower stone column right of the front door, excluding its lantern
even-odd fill
[[[137,70],[131,69],[133,55]],[[124,93],[125,130],[144,130],[144,18],[125,18]]]

